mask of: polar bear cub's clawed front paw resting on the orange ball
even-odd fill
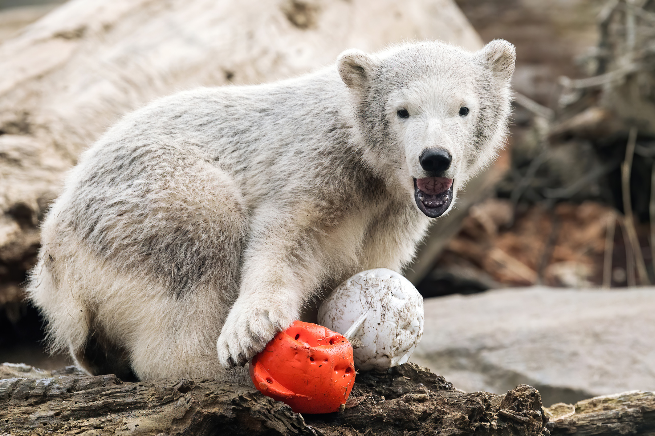
[[[219,363],[226,368],[245,365],[294,320],[284,310],[233,307],[216,343]]]

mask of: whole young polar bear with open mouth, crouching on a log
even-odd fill
[[[67,177],[28,295],[52,350],[124,379],[244,380],[345,278],[401,271],[506,137],[514,46],[441,42],[128,114]]]

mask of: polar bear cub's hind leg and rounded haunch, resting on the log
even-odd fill
[[[246,212],[214,165],[174,171],[165,189],[143,175],[153,178],[143,195],[65,193],[48,215],[28,292],[53,348],[68,348],[90,373],[237,377],[219,367],[215,341],[237,293]]]

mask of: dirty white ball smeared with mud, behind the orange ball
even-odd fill
[[[369,269],[327,297],[318,309],[318,324],[354,339],[359,369],[387,369],[407,362],[421,341],[423,297],[395,271]]]

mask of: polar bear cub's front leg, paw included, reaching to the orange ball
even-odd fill
[[[330,262],[308,216],[262,205],[252,217],[239,295],[217,341],[224,367],[244,365],[320,289]]]

